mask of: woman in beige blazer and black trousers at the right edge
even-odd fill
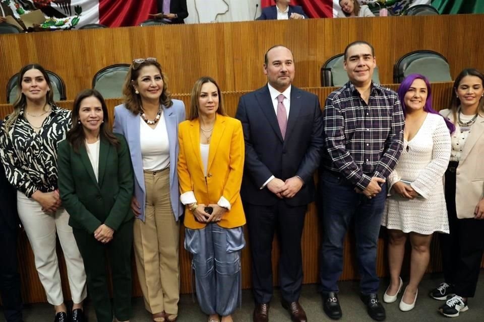
[[[455,125],[444,175],[450,234],[441,235],[445,282],[430,296],[446,300],[439,311],[455,317],[473,297],[484,251],[484,75],[464,69],[454,82],[449,109],[440,113]],[[452,295],[452,296],[450,296]]]

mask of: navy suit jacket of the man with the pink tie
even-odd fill
[[[312,202],[313,174],[319,167],[324,145],[318,97],[292,86],[284,139],[267,86],[242,96],[235,118],[242,122],[246,143],[242,200],[254,205],[274,205],[279,199],[269,189],[260,189],[264,183],[271,176],[283,181],[299,176],[304,181],[301,190],[284,200],[290,206]]]

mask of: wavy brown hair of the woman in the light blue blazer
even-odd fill
[[[136,67],[134,67],[136,65]],[[136,83],[141,68],[145,66],[153,65],[160,71],[161,79],[163,79],[163,89],[160,96],[160,104],[165,108],[169,108],[173,105],[171,101],[171,93],[168,91],[168,77],[163,72],[159,62],[155,60],[145,60],[140,64],[131,64],[128,74],[126,75],[125,84],[123,85],[123,95],[125,98],[125,107],[133,112],[133,114],[139,114],[142,112],[141,109],[141,97],[139,94],[135,93],[135,88],[133,86]]]

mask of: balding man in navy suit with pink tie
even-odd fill
[[[268,84],[244,95],[235,118],[246,143],[240,195],[252,252],[255,322],[268,321],[272,298],[271,251],[280,245],[282,305],[294,322],[307,321],[299,305],[302,284],[301,235],[307,206],[314,200],[313,174],[323,148],[322,113],[316,95],[292,86],[294,58],[284,46],[264,57]]]

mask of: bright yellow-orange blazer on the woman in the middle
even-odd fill
[[[230,202],[218,225],[234,228],[246,223],[240,199],[244,171],[244,134],[239,120],[217,114],[210,141],[207,177],[200,153],[200,122],[187,120],[178,125],[178,181],[181,194],[193,191],[198,203],[216,204],[220,197]],[[205,223],[195,220],[185,207],[185,227],[200,229]]]

